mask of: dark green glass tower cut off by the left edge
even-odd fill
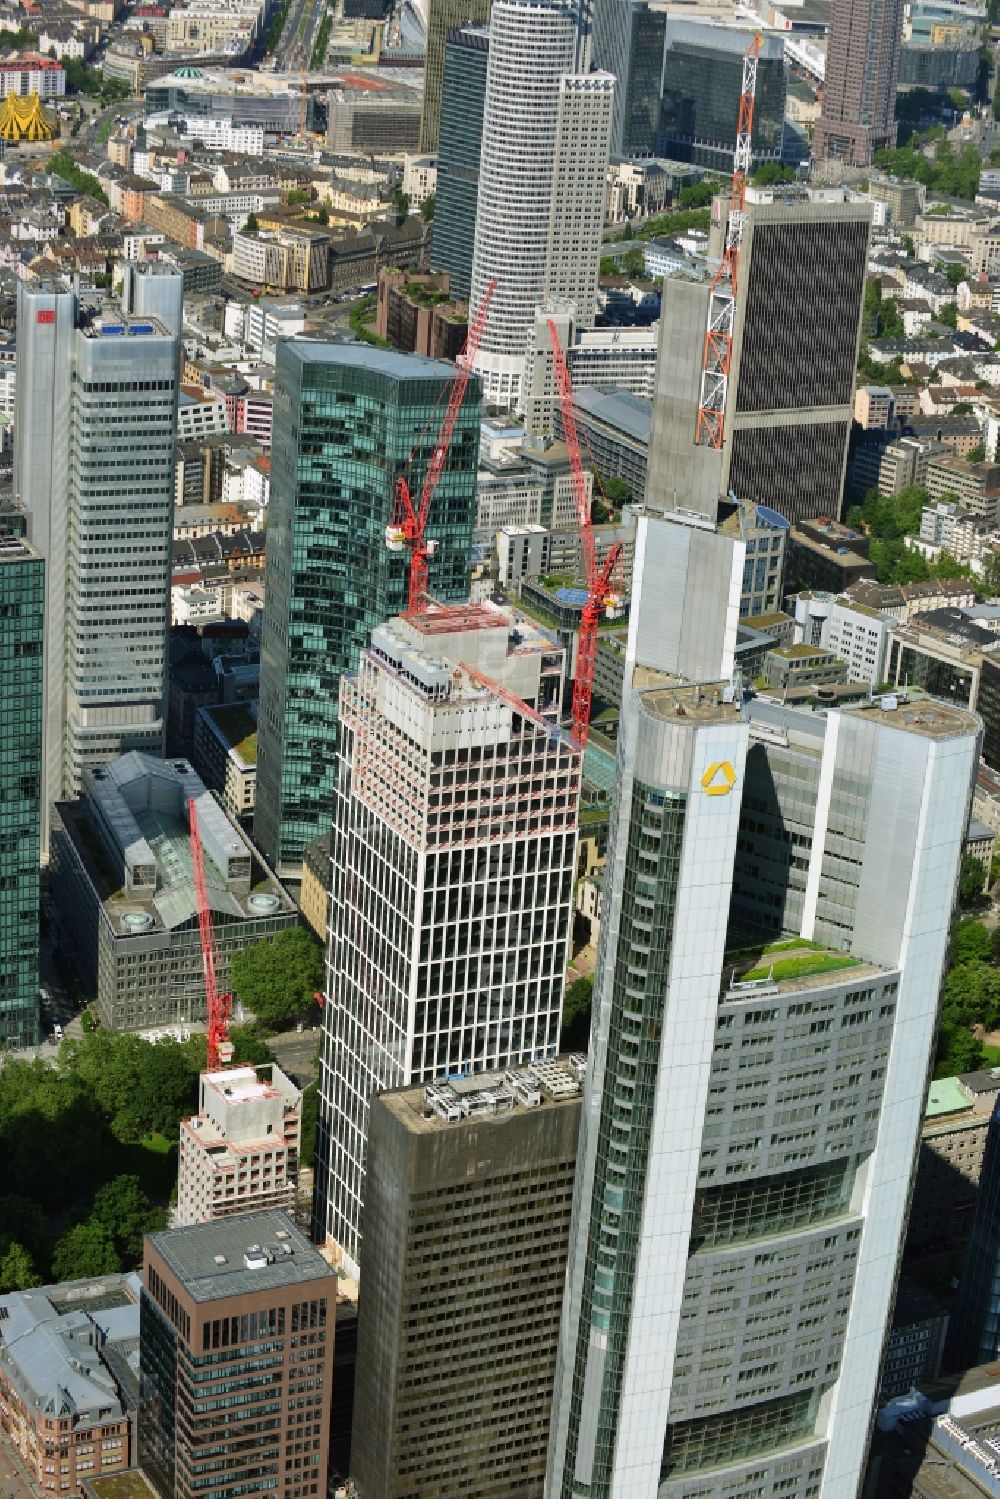
[[[42,622],[45,564],[0,535],[0,1046],[39,1033]]]

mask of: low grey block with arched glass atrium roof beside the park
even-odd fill
[[[121,755],[84,770],[73,802],[57,802],[52,890],[78,982],[112,1030],[204,1021],[205,974],[190,862],[196,802],[213,910],[216,976],[229,959],[295,925],[295,907],[187,760]]]

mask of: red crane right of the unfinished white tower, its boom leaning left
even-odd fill
[[[583,477],[583,460],[580,459],[580,439],[576,430],[576,415],[573,412],[573,382],[570,369],[559,343],[559,331],[549,318],[549,337],[552,339],[552,361],[556,375],[556,391],[559,394],[559,409],[562,411],[562,432],[570,454],[570,475],[573,480],[573,498],[576,499],[576,514],[580,526],[580,553],[583,558],[583,582],[586,583],[586,603],[580,615],[576,645],[576,676],[573,678],[573,738],[580,750],[586,748],[591,732],[591,697],[594,694],[594,663],[597,660],[597,627],[601,615],[613,618],[621,613],[622,598],[612,588],[612,579],[622,553],[621,541],[616,541],[604,558],[603,565],[597,565],[594,549],[594,526],[591,522],[591,496],[586,492]]]

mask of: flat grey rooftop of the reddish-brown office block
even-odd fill
[[[325,1279],[336,1288],[334,1271],[286,1213],[246,1213],[217,1223],[163,1229],[150,1234],[148,1243],[193,1301],[219,1301]],[[246,1262],[247,1255],[253,1268]]]

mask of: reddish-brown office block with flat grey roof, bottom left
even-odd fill
[[[336,1298],[286,1213],[147,1235],[138,1450],[160,1499],[325,1495]]]

